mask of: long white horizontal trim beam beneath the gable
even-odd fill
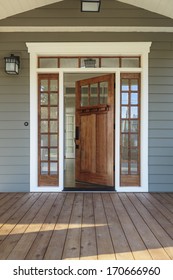
[[[173,33],[161,26],[0,26],[0,32],[149,32]]]

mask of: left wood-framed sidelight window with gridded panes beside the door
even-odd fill
[[[57,185],[59,166],[57,75],[39,75],[38,107],[39,185]],[[53,181],[52,176],[55,176]]]

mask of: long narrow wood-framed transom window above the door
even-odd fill
[[[39,57],[38,68],[139,68],[139,56]]]

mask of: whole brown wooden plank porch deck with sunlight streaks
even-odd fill
[[[173,259],[173,194],[1,193],[0,259]]]

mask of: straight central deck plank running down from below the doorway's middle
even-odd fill
[[[97,243],[92,194],[84,195],[80,259],[97,260]]]

